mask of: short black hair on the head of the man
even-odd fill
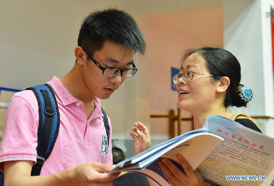
[[[79,31],[78,46],[91,56],[103,48],[105,41],[124,45],[140,55],[146,51],[146,42],[136,21],[130,14],[115,8],[90,13]]]

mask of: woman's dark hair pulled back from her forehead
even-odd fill
[[[248,101],[245,102],[245,100],[239,95],[241,93],[240,88],[243,85],[240,84],[241,65],[236,57],[223,48],[205,46],[187,50],[181,59],[181,64],[184,63],[188,56],[194,53],[200,54],[200,56],[206,61],[206,66],[213,75],[214,80],[220,80],[223,76],[230,79],[230,85],[227,88],[224,101],[225,107],[246,107]],[[249,99],[249,101],[250,100],[251,99]]]

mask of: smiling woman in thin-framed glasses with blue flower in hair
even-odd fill
[[[177,107],[193,115],[194,129],[202,128],[207,116],[217,114],[261,132],[248,115],[227,112],[231,106],[246,107],[252,98],[251,90],[240,80],[240,63],[230,52],[212,46],[189,50],[181,59],[179,74],[173,78],[178,91]],[[159,162],[171,185],[205,185],[198,169],[193,171],[181,155],[177,159],[185,173],[168,159]]]

